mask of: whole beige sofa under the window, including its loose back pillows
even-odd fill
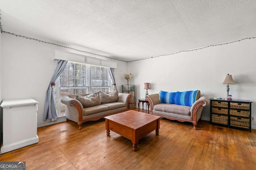
[[[62,98],[66,119],[77,122],[79,130],[82,123],[95,121],[108,115],[128,110],[131,94],[118,91],[93,94],[69,95]]]

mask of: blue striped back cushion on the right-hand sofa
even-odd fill
[[[200,97],[200,90],[185,92],[159,92],[161,104],[177,104],[182,106],[192,106]]]

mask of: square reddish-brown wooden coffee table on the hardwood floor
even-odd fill
[[[159,134],[160,116],[139,111],[128,110],[104,117],[106,119],[107,136],[110,130],[132,141],[132,149],[137,150],[139,139],[156,130]]]

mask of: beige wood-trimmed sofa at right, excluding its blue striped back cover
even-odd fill
[[[177,104],[161,104],[159,94],[150,94],[146,96],[150,104],[150,113],[159,115],[171,120],[192,122],[194,129],[201,117],[202,109],[210,103],[210,100],[204,96],[198,97],[198,100],[192,106],[182,106]]]

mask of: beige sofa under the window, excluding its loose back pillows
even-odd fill
[[[92,94],[81,94],[79,97],[82,98],[81,96],[89,95]],[[62,98],[61,102],[65,105],[67,121],[72,120],[74,122],[77,122],[80,130],[83,122],[95,121],[105,116],[128,110],[128,101],[131,97],[131,94],[118,93],[118,98],[116,102],[110,101],[110,103],[108,103],[106,102],[108,101],[108,99],[105,99],[106,101],[103,102],[103,104],[101,101],[100,104],[91,107],[84,107],[81,102],[78,101],[79,98],[77,97],[77,95],[65,96],[64,98]],[[77,98],[78,100],[76,100],[75,98]],[[92,101],[90,102],[92,103]]]

